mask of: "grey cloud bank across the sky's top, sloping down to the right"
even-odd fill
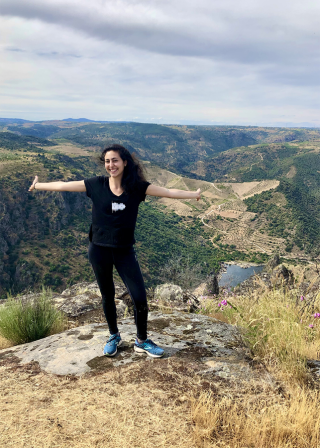
[[[309,6],[309,7],[308,7]],[[311,0],[2,0],[0,14],[58,24],[150,52],[237,63],[318,55],[320,7]]]

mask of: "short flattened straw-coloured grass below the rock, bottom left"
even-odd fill
[[[156,380],[146,378],[137,364],[78,380],[30,365],[0,369],[0,446],[195,446],[188,400],[179,387],[184,385],[177,375],[170,377],[170,367],[163,373],[170,378]]]

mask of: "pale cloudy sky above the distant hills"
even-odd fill
[[[0,117],[320,126],[316,0],[0,0]]]

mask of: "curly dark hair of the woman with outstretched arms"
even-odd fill
[[[119,154],[123,161],[127,162],[121,179],[121,186],[125,193],[135,191],[139,183],[146,182],[144,167],[134,153],[130,153],[127,148],[122,145],[114,144],[105,148],[100,156],[100,161],[104,164],[106,153],[115,151]]]

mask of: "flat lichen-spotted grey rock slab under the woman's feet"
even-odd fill
[[[199,314],[150,313],[149,337],[164,348],[165,357],[193,363],[196,372],[249,380],[257,375],[248,361],[236,327]],[[109,337],[106,324],[77,327],[47,338],[0,351],[0,364],[37,362],[57,375],[83,375],[153,358],[133,350],[136,327],[132,318],[119,322],[123,344],[113,358],[103,356]],[[155,360],[157,362],[157,360]],[[259,372],[261,378],[261,372]]]

